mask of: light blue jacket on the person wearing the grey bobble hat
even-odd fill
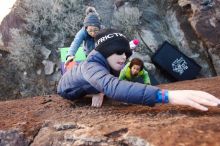
[[[82,43],[83,43],[83,50],[85,51],[86,55],[88,55],[95,48],[94,38],[88,34],[85,27],[83,27],[76,34],[73,42],[70,45],[70,49],[67,56],[69,55],[75,56],[77,50],[79,49]]]

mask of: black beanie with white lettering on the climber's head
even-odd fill
[[[95,37],[95,50],[100,52],[105,58],[112,54],[126,54],[129,58],[132,55],[129,41],[117,30],[103,29]]]

